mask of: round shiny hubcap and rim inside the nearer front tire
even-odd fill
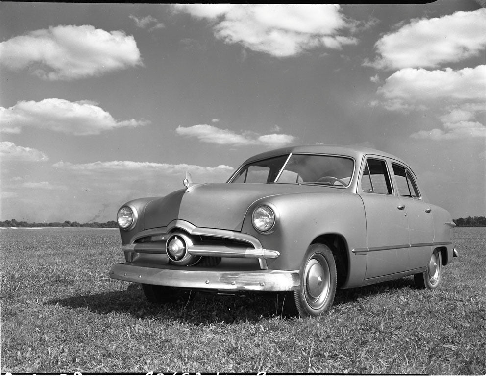
[[[330,270],[323,255],[314,254],[305,267],[303,286],[308,305],[321,308],[330,289]]]

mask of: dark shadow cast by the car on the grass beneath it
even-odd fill
[[[354,289],[339,289],[334,307],[352,304],[383,293],[399,293],[405,288],[413,289],[411,278]],[[131,284],[122,291],[78,295],[51,300],[49,304],[59,304],[71,309],[88,309],[98,314],[119,312],[141,319],[181,320],[199,325],[216,322],[258,322],[264,317],[292,318],[294,314],[291,305],[288,306],[288,301],[284,297],[284,294],[278,293],[246,295],[196,293],[195,298],[188,301],[158,305],[148,303],[141,287]]]

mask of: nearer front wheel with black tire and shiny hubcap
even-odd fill
[[[316,317],[332,307],[337,289],[337,267],[330,248],[310,245],[301,265],[301,285],[294,291],[300,317]]]

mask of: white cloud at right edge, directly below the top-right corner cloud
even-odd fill
[[[435,100],[485,99],[485,65],[427,71],[405,68],[386,79],[377,93],[387,100],[423,105]]]

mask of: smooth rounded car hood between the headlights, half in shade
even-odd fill
[[[321,189],[337,191],[327,187]],[[181,219],[196,227],[240,231],[248,207],[256,200],[313,191],[318,188],[297,184],[196,184],[188,190],[174,191],[150,201],[145,207],[143,225],[144,229],[165,227],[172,220]]]

